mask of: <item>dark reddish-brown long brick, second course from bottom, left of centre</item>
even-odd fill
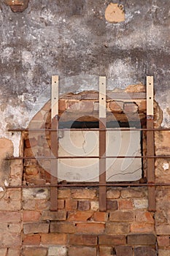
[[[97,236],[90,235],[70,235],[69,244],[72,245],[97,245]]]

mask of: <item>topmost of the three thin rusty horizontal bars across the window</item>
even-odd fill
[[[106,128],[106,129],[98,129],[98,128],[58,128],[58,129],[8,129],[8,132],[55,132],[55,131],[102,131],[102,130],[108,130],[108,131],[163,131],[163,132],[169,132],[170,128]]]

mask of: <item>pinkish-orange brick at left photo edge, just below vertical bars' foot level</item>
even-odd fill
[[[19,212],[0,211],[0,222],[20,222],[21,214]]]

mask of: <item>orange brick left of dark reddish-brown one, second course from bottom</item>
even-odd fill
[[[66,244],[66,234],[42,234],[42,244]]]

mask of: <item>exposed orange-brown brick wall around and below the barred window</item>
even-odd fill
[[[113,104],[115,102],[109,102],[110,109]],[[138,112],[139,106],[144,112],[142,105],[145,102],[140,102]],[[42,116],[38,113],[33,125],[36,122],[42,127],[43,117],[50,127],[49,108],[49,104],[45,105]],[[128,107],[123,102],[123,108],[136,109],[136,104]],[[155,111],[155,127],[159,127],[161,112],[156,104]],[[20,153],[31,156],[31,150],[37,146],[47,153],[48,133],[46,138],[47,144],[44,138],[28,138],[23,132]],[[155,153],[169,154],[169,132],[155,132]],[[49,161],[45,167],[50,167]],[[11,160],[9,173],[11,186],[37,184],[40,187],[1,189],[1,256],[169,256],[169,187],[156,187],[155,213],[147,210],[147,188],[144,187],[109,187],[106,212],[98,210],[97,188],[62,188],[58,191],[58,211],[52,212],[50,191],[41,187],[49,183],[50,175],[35,159]],[[169,174],[169,159],[157,159],[156,181],[169,182]]]

